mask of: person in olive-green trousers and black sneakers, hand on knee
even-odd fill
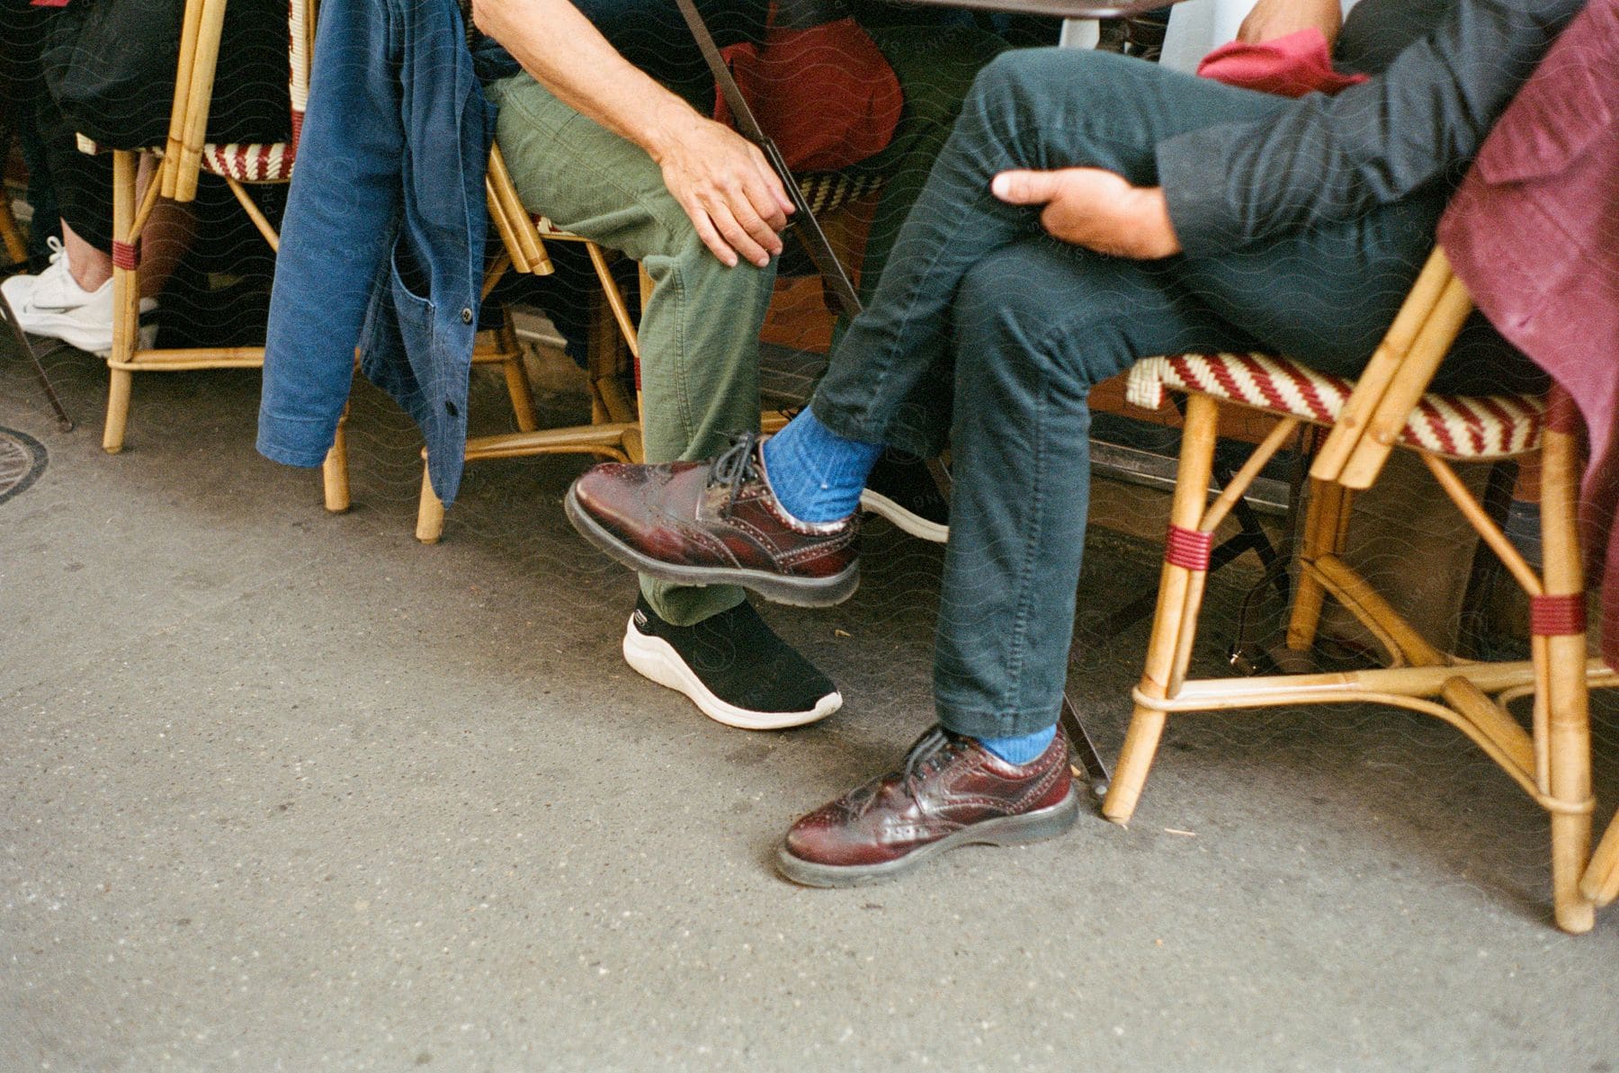
[[[769,6],[699,3],[722,44],[761,39]],[[808,6],[843,13],[835,3]],[[528,207],[627,252],[652,277],[640,380],[648,458],[703,458],[724,445],[727,430],[756,427],[758,335],[792,202],[758,146],[695,107],[711,107],[714,81],[675,5],[474,0],[471,13],[516,61],[486,91],[499,108],[495,138]],[[853,23],[843,29],[858,44],[863,31]],[[877,37],[902,84],[920,87],[907,97],[890,151],[873,167],[889,162],[924,173],[971,76],[1004,42],[960,29],[884,28]],[[839,73],[816,74],[831,94],[819,102],[822,115],[860,107],[839,99],[845,84],[855,97],[861,84],[894,79],[873,71],[884,63],[873,47],[852,50],[842,63]],[[892,128],[895,117],[887,121]],[[903,201],[903,218],[915,194],[915,184],[895,183],[884,210],[894,215],[895,201]],[[737,586],[643,578],[623,652],[635,670],[733,727],[801,725],[842,704],[832,681],[788,647]]]

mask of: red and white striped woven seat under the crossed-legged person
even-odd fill
[[[1332,424],[1355,384],[1273,354],[1172,354],[1135,363],[1125,400],[1158,409],[1166,388]],[[1540,447],[1545,413],[1540,395],[1428,393],[1400,442],[1444,458],[1511,458]]]

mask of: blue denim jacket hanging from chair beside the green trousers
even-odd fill
[[[282,222],[259,452],[319,466],[361,371],[461,482],[494,108],[455,0],[324,0]]]

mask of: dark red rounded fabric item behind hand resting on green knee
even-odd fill
[[[737,87],[793,172],[837,172],[894,139],[905,97],[894,68],[855,19],[772,28],[764,45],[724,50]],[[730,123],[716,94],[714,118]]]

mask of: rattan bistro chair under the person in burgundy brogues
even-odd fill
[[[1465,733],[1551,817],[1557,924],[1583,932],[1593,898],[1619,884],[1619,837],[1604,846],[1608,872],[1582,892],[1591,832],[1588,685],[1619,685],[1585,647],[1585,597],[1574,523],[1579,418],[1556,393],[1460,398],[1425,393],[1472,299],[1436,249],[1358,384],[1261,354],[1151,358],[1132,371],[1132,398],[1154,405],[1187,393],[1187,424],[1158,612],[1135,712],[1103,812],[1127,822],[1171,714],[1264,706],[1381,702],[1436,715]],[[1248,463],[1208,502],[1219,411],[1248,406],[1282,419]],[[1261,466],[1305,424],[1331,429],[1310,471],[1311,495],[1298,549],[1287,646],[1308,649],[1323,602],[1332,597],[1379,639],[1389,665],[1352,673],[1188,680],[1187,667],[1214,529]],[[1530,599],[1533,659],[1468,662],[1441,652],[1353,570],[1342,552],[1349,505],[1370,487],[1394,447],[1415,452]],[[1486,461],[1538,453],[1543,464],[1545,568],[1536,573],[1468,494],[1447,460]],[[1530,728],[1507,710],[1533,698]],[[1606,887],[1601,884],[1606,882]]]

